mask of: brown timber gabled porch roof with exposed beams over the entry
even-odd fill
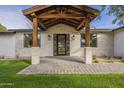
[[[23,10],[31,21],[38,19],[38,27],[47,30],[56,24],[66,24],[80,30],[85,27],[87,19],[91,22],[99,11],[85,5],[40,5]]]

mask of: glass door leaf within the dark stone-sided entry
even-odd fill
[[[66,35],[58,35],[58,55],[66,54]]]

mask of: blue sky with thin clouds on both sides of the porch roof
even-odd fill
[[[31,5],[0,5],[0,24],[7,29],[32,29],[31,22],[23,15],[22,10],[32,7]],[[91,6],[96,7],[96,6]],[[91,28],[115,29],[119,26],[112,24],[114,16],[106,15],[104,11],[100,20],[94,19]]]

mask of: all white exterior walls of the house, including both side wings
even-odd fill
[[[95,30],[94,30],[95,31]],[[24,48],[24,33],[0,33],[0,56],[31,57],[32,48]],[[67,25],[59,24],[41,31],[41,56],[53,56],[53,34],[70,34],[70,56],[84,56],[84,48],[81,48],[81,35],[79,31]],[[51,35],[51,40],[48,40]],[[75,35],[75,40],[71,37]],[[93,55],[96,56],[124,56],[124,31],[100,32],[97,30],[97,47],[93,47]]]

